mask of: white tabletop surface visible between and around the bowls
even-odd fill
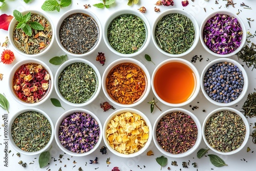
[[[7,6],[2,9],[0,11],[1,14],[6,13],[6,14],[11,14],[12,15],[12,11],[14,9],[17,9],[19,11],[24,11],[24,10],[29,10],[29,9],[36,9],[36,10],[41,10],[41,5],[44,3],[44,1],[39,1],[39,0],[32,0],[31,3],[29,4],[25,4],[22,0],[17,0],[17,1],[13,1],[13,0],[6,0],[7,2]],[[83,5],[85,4],[90,4],[91,6],[93,4],[99,3],[100,1],[93,1],[93,0],[73,0],[73,3],[71,6],[67,7],[67,8],[62,8],[60,9],[60,12],[57,11],[53,11],[53,12],[46,12],[51,19],[53,20],[54,24],[57,23],[58,18],[61,16],[61,14],[65,13],[66,11],[70,10],[70,9],[84,9]],[[154,0],[140,0],[140,3],[138,5],[133,5],[132,7],[127,6],[127,0],[116,0],[116,3],[114,5],[111,5],[110,9],[97,9],[96,7],[91,7],[89,9],[86,10],[90,10],[92,12],[94,12],[98,18],[100,19],[101,25],[102,27],[104,26],[105,20],[106,18],[112,14],[114,11],[116,11],[117,9],[134,9],[137,10],[138,8],[140,8],[141,6],[144,6],[147,11],[144,14],[151,26],[153,25],[153,22],[155,20],[155,18],[157,18],[157,16],[160,13],[157,13],[154,11],[154,7],[155,7],[155,3],[157,1]],[[215,4],[215,0],[209,0],[209,1],[204,1],[204,0],[195,0],[194,3],[191,2],[189,0],[189,5],[187,7],[182,7],[181,6],[181,0],[174,0],[175,5],[169,6],[169,7],[164,7],[164,6],[158,6],[158,8],[160,8],[160,11],[163,12],[167,9],[170,8],[180,8],[180,9],[184,9],[188,12],[191,13],[191,15],[194,15],[198,21],[199,26],[202,23],[202,20],[204,19],[204,17],[206,17],[206,15],[208,15],[209,13],[219,10],[219,7],[221,7],[221,10],[228,10],[234,13],[238,12],[238,9],[240,9],[242,12],[240,12],[239,16],[243,19],[245,26],[247,28],[247,31],[250,31],[251,33],[255,32],[255,21],[254,22],[250,22],[251,24],[251,28],[249,28],[249,25],[247,23],[247,19],[246,18],[251,18],[251,19],[256,19],[254,18],[254,10],[256,8],[256,1],[254,0],[243,0],[243,2],[250,6],[252,8],[252,10],[250,9],[244,9],[243,7],[240,7],[240,3],[242,3],[242,1],[236,1],[234,0],[234,3],[237,3],[235,5],[235,8],[233,8],[232,6],[229,7],[225,7],[225,4],[227,3],[227,1],[219,1],[219,4]],[[206,9],[206,12],[204,11],[204,9]],[[253,12],[254,11],[254,12]],[[0,30],[0,42],[1,45],[3,44],[5,37],[7,36],[7,31],[4,30]],[[252,41],[255,42],[255,39],[252,38]],[[55,75],[58,66],[53,66],[49,63],[49,59],[51,59],[52,57],[56,56],[56,55],[65,55],[64,52],[62,52],[60,50],[60,48],[58,47],[56,40],[54,40],[54,47],[51,48],[51,50],[46,53],[44,56],[38,57],[38,59],[44,61],[47,63],[47,65],[50,67],[50,69],[52,70],[53,74]],[[7,47],[7,49],[11,49],[12,47],[9,45]],[[1,53],[3,52],[4,48],[1,48]],[[102,65],[95,60],[98,52],[103,52],[105,53],[105,57],[106,57],[106,62],[105,65],[102,67]],[[26,108],[26,106],[22,106],[19,103],[17,103],[15,100],[12,99],[11,95],[8,92],[8,84],[7,84],[7,80],[9,77],[9,71],[11,70],[11,68],[13,67],[13,65],[15,65],[16,62],[28,58],[26,56],[21,56],[19,55],[17,52],[14,51],[14,54],[16,56],[16,60],[11,64],[11,65],[4,65],[3,63],[0,63],[0,73],[4,74],[4,78],[2,81],[0,81],[0,93],[5,94],[7,99],[10,102],[10,114],[8,115],[9,119],[13,116],[14,113],[18,112],[21,109]],[[152,57],[152,60],[155,62],[156,65],[154,65],[152,62],[148,62],[144,59],[144,54],[148,54]],[[202,57],[204,58],[201,62],[199,62],[198,60],[196,61],[196,63],[193,63],[199,73],[201,74],[203,68],[207,65],[207,63],[211,60],[216,59],[217,57],[212,56],[210,54],[208,54],[202,47],[201,42],[198,43],[197,47],[195,50],[193,50],[191,53],[189,53],[188,55],[182,57],[188,61],[191,61],[191,58],[194,55],[202,55]],[[68,56],[69,59],[72,59],[74,57],[72,56]],[[90,60],[92,63],[94,63],[94,65],[99,69],[101,75],[103,74],[106,66],[109,65],[109,63],[111,63],[113,60],[120,58],[119,56],[115,55],[114,53],[112,53],[110,50],[108,50],[108,48],[105,46],[103,38],[102,38],[102,42],[100,42],[100,46],[98,47],[98,49],[90,56],[85,57],[86,59]],[[155,67],[162,62],[165,59],[168,59],[169,57],[162,55],[160,52],[157,51],[157,49],[154,47],[153,42],[151,40],[150,45],[146,48],[146,50],[144,52],[142,52],[140,55],[138,56],[134,56],[133,58],[141,61],[146,68],[148,69],[148,71],[150,72],[150,74],[152,75]],[[237,56],[232,56],[231,57],[234,60],[238,60]],[[209,61],[207,61],[207,59],[209,59]],[[254,69],[253,71],[252,68],[247,68],[245,63],[243,63],[241,60],[239,60],[239,62],[244,65],[245,70],[247,71],[248,77],[249,77],[249,88],[247,91],[246,96],[241,100],[241,102],[237,103],[236,105],[231,106],[234,109],[237,109],[239,111],[241,111],[242,105],[244,103],[244,101],[246,100],[246,97],[248,95],[248,93],[251,93],[254,91],[255,85],[256,85],[256,70]],[[150,104],[147,104],[148,101],[152,100],[154,97],[154,94],[151,90],[150,94],[148,95],[148,97],[146,98],[145,101],[143,101],[141,104],[139,104],[138,106],[135,107],[135,109],[140,110],[141,112],[143,112],[151,121],[152,125],[154,124],[154,121],[156,120],[156,118],[159,116],[159,114],[161,113],[158,109],[155,109],[155,111],[151,114],[150,113]],[[55,91],[52,93],[51,98],[58,98]],[[157,100],[157,99],[156,99]],[[96,100],[94,100],[93,103],[91,103],[88,106],[84,106],[84,109],[88,109],[90,111],[92,111],[94,114],[96,114],[98,116],[98,118],[101,120],[102,125],[104,124],[104,120],[113,112],[113,110],[109,110],[108,112],[103,112],[103,110],[100,108],[99,103],[102,103],[104,101],[108,101],[108,99],[104,96],[102,90],[99,94],[99,96],[97,97]],[[199,102],[199,103],[198,103]],[[66,105],[64,102],[61,101],[62,106],[66,109],[66,111],[73,109],[74,107]],[[162,103],[157,103],[158,106],[162,109],[162,111],[166,111],[167,109],[170,109],[169,106],[166,106]],[[182,108],[187,109],[191,112],[193,112],[200,120],[201,124],[203,123],[204,118],[206,117],[206,115],[211,112],[214,109],[219,108],[216,105],[211,104],[210,102],[208,102],[206,100],[206,98],[203,96],[201,90],[197,96],[197,98],[190,103],[192,106],[197,105],[199,106],[198,109],[196,109],[195,111],[191,110],[191,108],[189,108],[189,104],[186,106],[183,106]],[[120,109],[120,107],[118,106],[114,106],[116,109]],[[48,101],[46,101],[44,104],[39,105],[38,106],[39,109],[45,111],[51,118],[53,123],[55,124],[58,117],[64,113],[65,111],[62,108],[57,108],[55,106],[52,105],[50,98],[48,99]],[[206,112],[202,112],[202,110],[206,110]],[[0,109],[0,113],[1,115],[5,114],[6,112],[2,109]],[[255,118],[248,118],[248,122],[252,123],[250,126],[250,133],[252,132],[252,126],[254,126],[254,122],[255,122]],[[3,124],[3,120],[1,119],[0,121],[1,124]],[[146,152],[143,153],[142,155],[135,157],[135,158],[120,158],[117,156],[114,156],[110,151],[108,151],[108,153],[106,155],[102,155],[99,152],[99,149],[101,146],[104,145],[103,140],[100,144],[100,147],[94,152],[92,153],[90,156],[87,157],[72,157],[69,156],[67,154],[65,154],[62,159],[60,159],[62,162],[60,162],[60,160],[58,160],[59,155],[63,154],[62,151],[60,151],[59,147],[56,145],[55,140],[52,143],[52,149],[51,149],[51,157],[53,157],[50,160],[50,165],[40,169],[39,165],[38,165],[38,157],[39,155],[36,156],[25,156],[22,155],[19,157],[16,156],[16,152],[14,151],[14,149],[10,146],[9,144],[9,149],[11,150],[11,153],[9,154],[9,159],[8,159],[8,167],[4,166],[4,128],[1,126],[0,129],[0,143],[2,145],[0,145],[0,168],[1,170],[58,170],[60,167],[62,170],[78,170],[79,167],[81,167],[83,170],[111,170],[113,167],[117,166],[119,167],[119,169],[121,171],[129,171],[129,170],[160,170],[160,165],[157,164],[155,158],[161,156],[162,154],[158,151],[158,149],[155,147],[154,142],[152,140],[151,146],[148,147],[148,149],[146,150],[152,150],[154,152],[154,156],[146,156]],[[246,152],[247,147],[250,147],[251,151],[250,152]],[[240,151],[239,153],[235,154],[235,155],[231,155],[231,156],[221,156],[218,155],[219,157],[221,157],[226,164],[228,164],[228,166],[223,166],[223,167],[215,167],[214,165],[212,165],[209,161],[209,157],[202,157],[201,159],[197,158],[197,152],[200,148],[206,148],[205,143],[202,142],[199,146],[199,148],[197,149],[196,152],[194,152],[193,154],[184,157],[184,158],[169,158],[168,157],[168,163],[165,167],[162,168],[162,170],[167,170],[167,167],[169,166],[171,168],[171,170],[255,170],[255,160],[256,160],[256,144],[252,143],[252,138],[250,137],[246,146],[242,149],[242,151]],[[252,153],[253,151],[255,151],[254,153]],[[215,154],[212,151],[208,151],[208,154]],[[94,160],[95,157],[98,157],[98,164],[89,164],[90,160]],[[110,157],[110,162],[111,164],[108,166],[108,164],[106,164],[106,159]],[[68,160],[68,158],[70,160]],[[56,161],[54,161],[54,159]],[[23,162],[27,163],[27,167],[23,168],[21,165],[18,164],[18,161],[22,160]],[[76,163],[75,163],[75,162]],[[177,161],[178,166],[172,166],[171,162],[172,161]],[[188,166],[188,168],[182,168],[182,162],[188,162],[190,161],[190,164]],[[198,167],[194,168],[192,163],[196,162]],[[33,164],[29,164],[29,163],[33,163]],[[86,164],[87,163],[87,164]],[[66,167],[65,167],[66,164]]]

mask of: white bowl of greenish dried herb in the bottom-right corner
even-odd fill
[[[238,153],[246,145],[250,127],[246,117],[233,108],[219,108],[210,112],[203,122],[206,145],[221,155]]]

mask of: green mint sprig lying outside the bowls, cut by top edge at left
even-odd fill
[[[57,10],[59,12],[60,8],[68,7],[71,3],[71,0],[60,0],[60,3],[58,3],[57,0],[47,0],[42,4],[41,9],[44,11]]]

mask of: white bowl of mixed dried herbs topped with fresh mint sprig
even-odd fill
[[[50,17],[36,10],[14,10],[13,15],[8,37],[15,51],[24,56],[38,57],[50,50],[55,38]]]

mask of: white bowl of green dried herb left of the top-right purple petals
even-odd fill
[[[181,57],[195,49],[199,41],[196,18],[181,9],[169,9],[158,15],[152,26],[152,40],[164,55]]]

